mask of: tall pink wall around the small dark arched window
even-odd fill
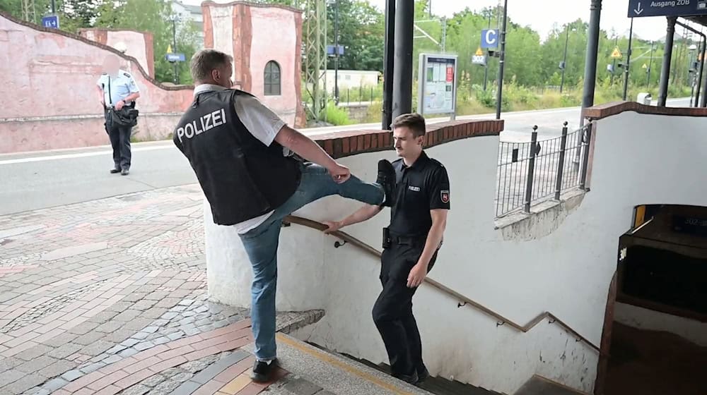
[[[204,45],[233,56],[235,87],[257,96],[290,125],[303,126],[306,118],[301,105],[301,11],[243,1],[206,1],[201,8]],[[268,61],[280,65],[279,96],[264,95]]]

